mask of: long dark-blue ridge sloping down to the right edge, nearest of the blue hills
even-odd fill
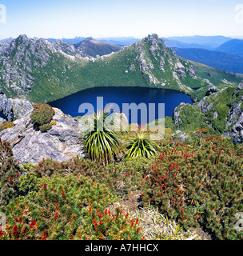
[[[242,48],[243,49],[243,48]],[[199,62],[207,66],[213,66],[218,70],[243,74],[243,58],[233,54],[225,54],[221,51],[195,49],[195,48],[173,48],[182,58]]]

